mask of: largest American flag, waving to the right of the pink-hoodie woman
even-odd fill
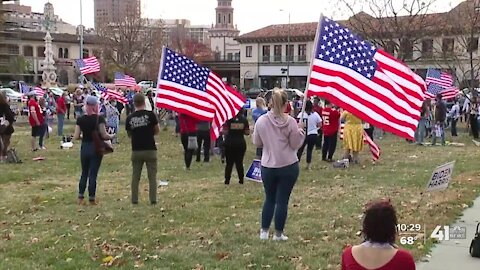
[[[317,40],[307,95],[413,139],[425,99],[423,79],[333,20],[321,20]]]

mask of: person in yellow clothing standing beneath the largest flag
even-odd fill
[[[359,164],[358,154],[363,149],[363,125],[350,112],[344,111],[340,117],[345,122],[343,130],[343,148],[345,149],[344,159],[349,159],[354,164]]]

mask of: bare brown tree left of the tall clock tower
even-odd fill
[[[102,59],[110,68],[122,70],[135,76],[155,79],[150,72],[160,62],[163,29],[160,20],[149,20],[127,15],[119,23],[99,27]]]

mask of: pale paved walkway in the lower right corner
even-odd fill
[[[452,226],[467,228],[467,239],[442,241],[431,251],[431,258],[417,263],[417,270],[479,270],[480,258],[472,258],[470,243],[475,236],[477,223],[480,222],[480,197],[474,205],[463,212],[463,216]]]

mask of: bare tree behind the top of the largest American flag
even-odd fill
[[[400,60],[418,60],[413,58],[418,41],[435,26],[435,15],[429,13],[437,0],[338,1],[341,12],[349,15],[348,27],[389,53],[396,52]]]

